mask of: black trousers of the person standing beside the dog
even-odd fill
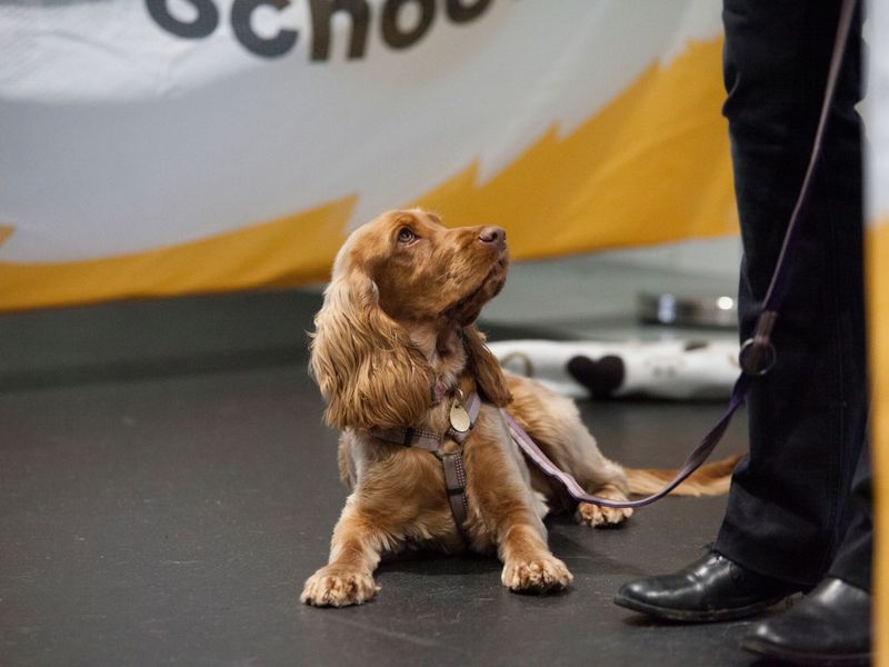
[[[839,0],[725,0],[725,80],[743,261],[741,339],[765,299],[811,152]],[[862,286],[860,11],[772,335],[747,399],[749,455],[716,550],[802,587],[870,589]]]

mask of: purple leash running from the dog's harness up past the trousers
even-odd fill
[[[812,152],[809,158],[809,166],[806,169],[806,177],[802,180],[797,203],[790,215],[790,221],[785,233],[781,252],[778,256],[778,262],[772,273],[769,289],[766,293],[766,299],[762,302],[762,311],[757,320],[753,336],[748,338],[741,346],[739,361],[741,366],[741,375],[735,382],[729,406],[726,414],[710,429],[710,431],[701,439],[698,447],[686,458],[682,467],[662,489],[646,496],[638,500],[610,500],[608,498],[600,498],[587,494],[577,480],[569,474],[560,470],[549,458],[545,455],[531,437],[518,425],[516,419],[505,409],[500,411],[509,425],[510,435],[516,444],[521,448],[525,455],[545,474],[551,478],[560,481],[565,486],[568,494],[579,502],[590,502],[601,507],[616,507],[616,508],[636,508],[650,505],[667,494],[672,491],[676,487],[682,484],[695,470],[697,470],[712,454],[719,440],[726,432],[731,418],[737,409],[743,402],[747,390],[750,388],[751,378],[766,375],[777,359],[775,346],[771,344],[771,331],[775,322],[778,319],[778,308],[782,298],[782,288],[787,282],[787,257],[796,246],[799,239],[799,220],[806,205],[809,200],[809,193],[812,187],[812,176],[818,159],[821,156],[821,147],[823,143],[825,131],[827,129],[828,116],[830,113],[830,103],[833,100],[833,91],[837,88],[837,78],[839,77],[840,66],[842,64],[842,52],[846,49],[846,41],[849,37],[849,29],[852,23],[852,14],[855,12],[856,0],[843,0],[840,8],[840,16],[837,23],[837,37],[833,41],[833,53],[830,58],[830,69],[828,71],[827,86],[825,88],[825,98],[821,103],[821,115],[818,119],[818,129],[815,133],[812,142]]]

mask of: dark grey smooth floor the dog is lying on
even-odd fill
[[[493,558],[421,555],[386,563],[370,604],[300,605],[344,500],[336,434],[304,360],[236,358],[247,368],[81,369],[58,386],[13,374],[0,392],[0,665],[752,663],[736,648],[745,623],[657,625],[611,604],[622,581],[696,558],[725,498],[669,498],[613,530],[550,520],[575,574],[562,595],[510,594]],[[720,411],[582,406],[602,449],[637,466],[677,465]],[[720,452],[743,441],[741,415]]]

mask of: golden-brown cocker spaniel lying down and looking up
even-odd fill
[[[485,346],[473,322],[503,287],[507,265],[502,229],[448,229],[418,209],[383,213],[343,245],[314,320],[311,372],[327,401],[327,422],[341,429],[339,467],[351,495],[333,529],[329,563],[306,581],[303,603],[368,600],[378,590],[373,570],[381,555],[408,546],[496,551],[511,590],[568,586],[571,573],[547,547],[547,512],[576,508],[580,524],[610,526],[632,510],[570,501],[526,464],[500,408],[591,494],[625,499],[660,486],[663,472],[625,469],[602,456],[571,400],[503,372]],[[460,445],[444,434],[451,407],[472,392],[482,402]],[[439,458],[378,437],[404,428],[443,435],[440,451],[462,446],[461,527]],[[708,467],[680,492],[725,492],[733,462]]]

